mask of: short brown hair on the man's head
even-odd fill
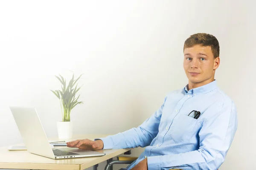
[[[185,48],[193,47],[194,45],[210,46],[212,48],[213,57],[219,57],[220,46],[216,37],[211,34],[198,33],[191,35],[184,42],[183,51]]]

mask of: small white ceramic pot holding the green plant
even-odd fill
[[[72,122],[57,122],[58,138],[70,139],[73,134]]]

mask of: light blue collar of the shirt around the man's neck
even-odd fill
[[[188,87],[189,87],[188,84],[184,87],[185,93],[190,92],[192,94],[204,94],[204,93],[207,93],[207,92],[212,91],[213,89],[217,88],[217,82],[216,82],[216,80],[214,80],[213,82],[210,82],[210,83],[200,86],[198,88],[192,88],[189,91],[187,90]]]

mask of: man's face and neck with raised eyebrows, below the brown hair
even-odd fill
[[[213,57],[210,46],[194,45],[184,49],[183,67],[189,79],[190,88],[206,85],[214,80],[219,57]]]

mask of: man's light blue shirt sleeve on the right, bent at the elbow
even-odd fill
[[[211,116],[203,122],[199,132],[199,149],[180,154],[148,156],[148,170],[217,170],[224,162],[236,133],[236,106],[233,102],[218,108],[214,105],[204,114]]]

